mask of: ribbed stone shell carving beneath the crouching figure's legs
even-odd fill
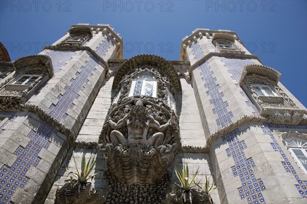
[[[109,171],[119,182],[125,181],[128,185],[154,184],[156,180],[163,177],[167,170],[167,164],[173,160],[175,155],[173,151],[161,155],[155,148],[146,151],[140,146],[125,148],[119,145],[113,149],[112,145],[108,147]],[[177,144],[169,146],[168,150],[171,148],[175,150]]]

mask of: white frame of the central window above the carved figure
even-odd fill
[[[142,88],[141,88],[140,94],[134,94],[137,81],[142,81]],[[149,74],[139,75],[136,79],[134,79],[132,81],[131,87],[130,87],[130,92],[129,92],[129,97],[137,96],[137,95],[149,96],[149,95],[145,95],[145,86],[148,83],[151,84],[152,87],[153,87],[151,97],[156,98],[157,97],[157,79],[155,79],[155,77],[153,77]]]

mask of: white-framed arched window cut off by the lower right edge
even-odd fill
[[[297,138],[289,138],[284,141],[294,160],[303,172],[307,174],[307,141]]]

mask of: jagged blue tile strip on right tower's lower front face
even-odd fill
[[[226,149],[228,157],[232,157],[235,165],[231,167],[233,176],[239,176],[242,187],[238,188],[241,199],[246,199],[248,203],[266,203],[262,196],[262,191],[266,190],[261,178],[257,179],[253,168],[255,163],[253,159],[247,158],[244,149],[247,145],[244,141],[239,141],[238,134],[240,130],[235,130],[223,135],[223,141],[226,141],[229,148]]]

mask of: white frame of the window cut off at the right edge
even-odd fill
[[[292,142],[290,143],[290,141],[292,141]],[[307,174],[307,169],[305,169],[305,167],[303,166],[303,164],[301,163],[301,161],[299,160],[299,158],[296,156],[296,154],[293,151],[293,149],[301,150],[307,158],[307,152],[306,152],[307,141],[300,140],[300,139],[297,139],[297,138],[289,138],[289,139],[285,140],[285,142],[286,142],[287,148],[289,149],[292,157],[294,158],[294,160],[296,161],[298,166],[302,169],[302,171],[305,174]]]

